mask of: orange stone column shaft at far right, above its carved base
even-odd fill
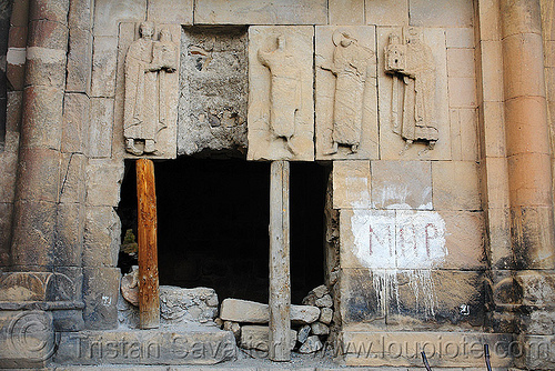
[[[539,1],[503,0],[501,13],[513,249],[518,268],[554,269]]]

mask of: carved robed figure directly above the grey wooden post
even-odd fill
[[[287,49],[284,36],[278,37],[275,50],[260,49],[258,57],[271,74],[270,128],[275,137],[284,138],[289,150],[296,154],[290,139],[295,134],[301,109],[301,67]]]

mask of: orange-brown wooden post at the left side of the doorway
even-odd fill
[[[158,290],[157,190],[154,163],[137,160],[137,201],[139,238],[139,327],[160,327],[160,298]]]

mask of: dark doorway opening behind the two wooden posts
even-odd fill
[[[268,303],[270,163],[178,158],[155,162],[160,284],[215,289],[220,300]],[[291,163],[292,302],[324,280],[327,169]],[[125,163],[122,238],[137,233],[134,161]],[[119,267],[131,262],[120,254]]]

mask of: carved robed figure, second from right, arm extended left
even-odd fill
[[[335,31],[332,40],[333,62],[321,66],[335,76],[333,144],[326,154],[337,153],[339,146],[347,146],[356,153],[362,134],[364,83],[373,52],[346,31]]]

